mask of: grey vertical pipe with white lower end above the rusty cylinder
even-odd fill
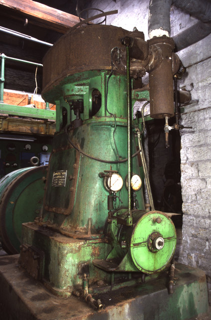
[[[150,0],[148,33],[153,36],[170,36],[170,7],[172,0]]]

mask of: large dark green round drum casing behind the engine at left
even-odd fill
[[[40,213],[46,173],[47,165],[26,167],[0,180],[0,234],[8,253],[20,252],[22,223]]]

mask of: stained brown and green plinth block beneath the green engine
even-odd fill
[[[53,295],[16,265],[0,267],[0,285],[4,288],[0,291],[0,311],[4,320],[184,320],[208,310],[204,272],[179,263],[173,295],[167,293],[166,277],[162,277],[99,294],[105,305],[100,311],[91,309],[80,297]]]

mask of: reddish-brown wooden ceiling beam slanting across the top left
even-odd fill
[[[0,0],[0,8],[4,6],[14,12],[24,14],[30,22],[43,25],[48,29],[65,33],[68,29],[80,22],[78,16],[52,8],[33,0]]]

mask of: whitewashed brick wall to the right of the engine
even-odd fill
[[[193,100],[184,107],[181,124],[192,126],[181,134],[183,199],[182,247],[179,260],[206,272],[211,301],[211,34],[179,52],[187,67],[180,86]]]

